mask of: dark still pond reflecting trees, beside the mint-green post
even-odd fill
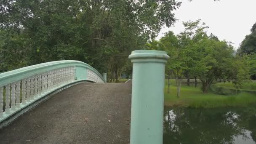
[[[256,106],[165,107],[163,144],[256,144]]]

